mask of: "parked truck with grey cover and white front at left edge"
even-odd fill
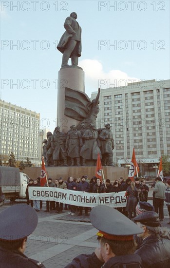
[[[5,199],[15,201],[26,198],[26,188],[30,178],[18,168],[0,166],[0,187]]]

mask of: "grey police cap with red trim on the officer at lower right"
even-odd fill
[[[92,225],[99,230],[97,235],[109,240],[129,241],[142,229],[119,211],[105,206],[97,206],[90,213]]]

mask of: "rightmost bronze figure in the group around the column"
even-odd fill
[[[108,166],[113,166],[113,149],[114,149],[114,140],[113,133],[111,131],[110,124],[105,125],[105,129],[99,135],[99,139],[101,140],[101,153],[102,153],[102,162],[103,166],[106,166],[108,162]]]

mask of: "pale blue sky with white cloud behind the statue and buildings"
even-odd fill
[[[85,72],[89,97],[99,86],[119,85],[120,79],[170,78],[169,0],[2,0],[0,98],[40,113],[40,128],[51,131],[62,59],[56,44],[73,11],[82,28],[78,65]]]

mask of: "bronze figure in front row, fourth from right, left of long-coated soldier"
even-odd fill
[[[63,133],[59,132],[59,127],[56,127],[51,137],[51,146],[53,149],[53,160],[55,166],[58,166],[58,160],[60,159],[64,160],[64,166],[68,166],[63,140]]]

